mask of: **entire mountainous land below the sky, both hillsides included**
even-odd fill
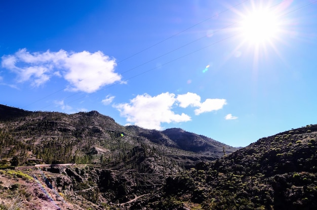
[[[317,207],[317,124],[237,150],[181,129],[124,127],[97,111],[1,108],[13,114],[0,115],[1,209]]]

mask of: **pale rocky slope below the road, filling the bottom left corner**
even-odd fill
[[[127,209],[160,188],[162,177],[149,173],[84,164],[19,166],[0,170],[0,209]]]

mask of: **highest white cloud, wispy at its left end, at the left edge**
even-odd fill
[[[29,53],[26,49],[2,57],[2,67],[17,74],[18,82],[31,81],[38,87],[52,76],[63,76],[69,82],[67,90],[93,93],[105,85],[121,82],[114,72],[115,60],[98,51]]]

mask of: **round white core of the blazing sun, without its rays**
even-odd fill
[[[265,44],[279,36],[279,18],[268,9],[257,9],[245,14],[240,24],[242,37],[249,44]]]

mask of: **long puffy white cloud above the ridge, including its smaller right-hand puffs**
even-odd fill
[[[148,94],[138,95],[130,103],[113,105],[121,116],[126,117],[129,124],[137,124],[146,129],[161,130],[161,123],[186,122],[191,117],[185,113],[175,114],[172,109],[176,106],[186,108],[188,106],[197,107],[194,112],[199,115],[204,112],[221,109],[225,104],[225,99],[207,99],[201,103],[201,97],[194,93],[178,95],[172,93],[162,93],[157,96]]]

